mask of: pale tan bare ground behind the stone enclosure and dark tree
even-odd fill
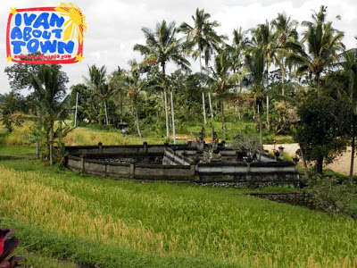
[[[289,155],[295,155],[296,150],[299,148],[297,143],[281,144],[281,146],[285,148],[284,151]],[[280,144],[275,146],[275,148],[277,149],[278,147],[280,147]],[[272,151],[274,149],[274,145],[264,145],[264,149]],[[348,175],[350,173],[350,163],[351,163],[351,147],[347,147],[347,150],[345,151],[344,154],[342,154],[341,156],[337,156],[334,163],[329,163],[325,167],[335,172]],[[357,175],[357,160],[354,161],[353,175]]]

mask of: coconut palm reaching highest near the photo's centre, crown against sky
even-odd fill
[[[217,21],[209,21],[211,14],[204,13],[204,10],[196,9],[195,15],[192,16],[194,26],[183,22],[179,31],[186,34],[187,48],[192,53],[194,59],[199,58],[200,71],[203,71],[202,57],[204,56],[205,67],[208,68],[209,62],[212,58],[214,50],[218,50],[222,40],[226,39],[224,36],[220,36],[215,31],[215,28],[220,26]],[[211,117],[212,112],[212,99],[211,93],[208,92],[209,105]],[[203,105],[203,121],[206,124],[206,108],[204,100],[204,91],[202,92],[202,105]]]

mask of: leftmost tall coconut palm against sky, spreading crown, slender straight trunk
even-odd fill
[[[176,63],[188,70],[190,63],[184,57],[183,46],[176,38],[175,22],[166,21],[156,24],[155,30],[143,28],[146,45],[135,45],[134,50],[145,56],[144,64],[158,64],[162,69],[163,94],[165,102],[166,137],[169,138],[169,113],[166,89],[166,64]]]

